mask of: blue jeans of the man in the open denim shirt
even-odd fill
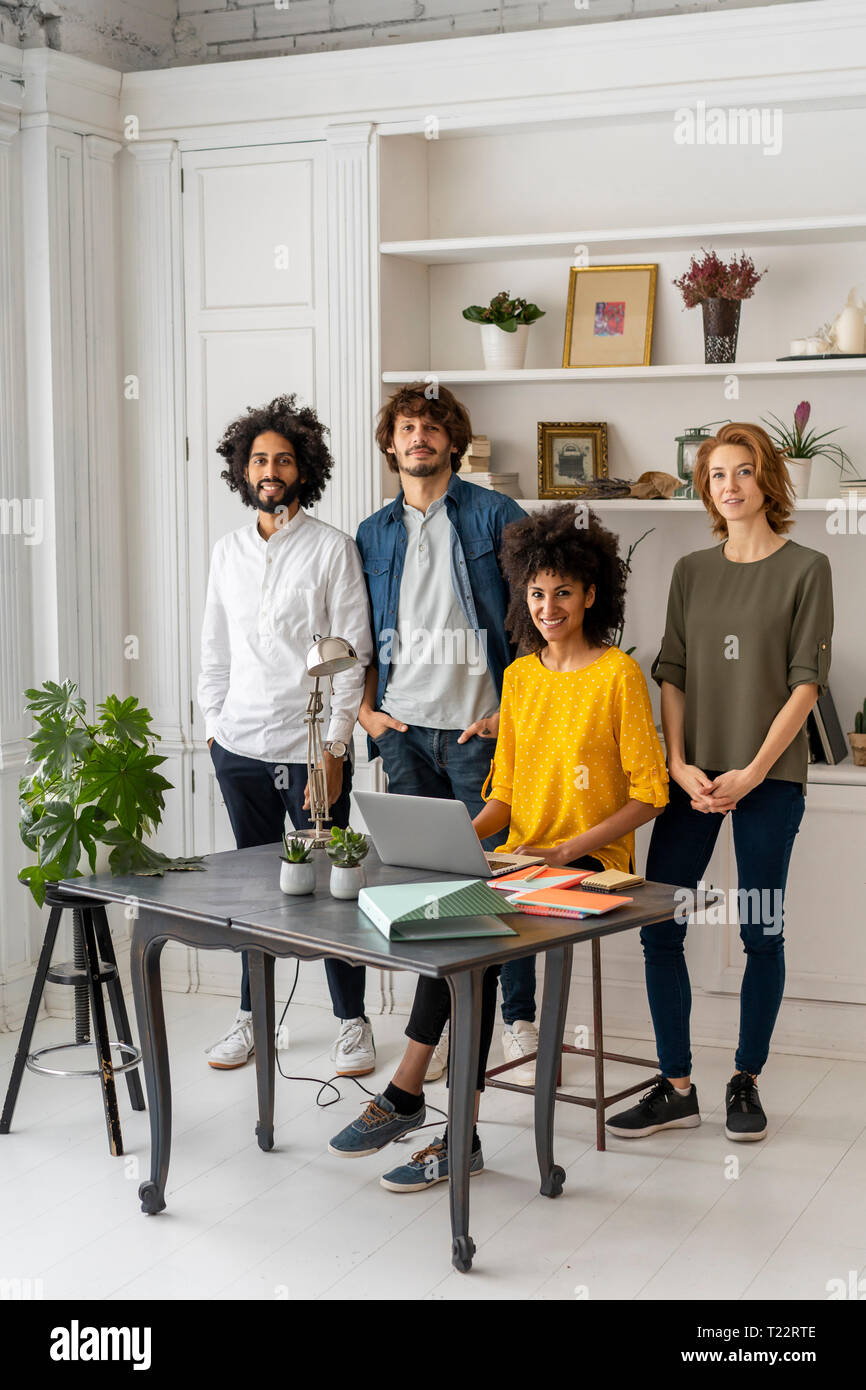
[[[461,801],[470,816],[484,806],[481,788],[491,770],[496,748],[495,738],[473,735],[459,744],[460,728],[425,728],[410,724],[405,734],[388,728],[377,739],[385,764],[388,790],[402,796],[439,796]],[[485,849],[495,849],[502,833],[482,841]],[[517,1019],[535,1022],[535,956],[512,960],[502,967],[502,1017],[505,1023]]]

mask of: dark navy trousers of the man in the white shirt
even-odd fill
[[[215,738],[210,746],[210,756],[238,849],[249,849],[252,845],[272,845],[282,840],[286,812],[295,830],[306,830],[311,826],[310,813],[303,809],[303,790],[307,784],[306,763],[265,763],[259,758],[240,758],[239,753],[229,753]],[[345,828],[349,824],[350,794],[352,764],[346,759],[342,791],[331,806],[332,826]],[[277,873],[277,865],[274,865],[274,873]],[[250,974],[246,951],[240,952],[240,1008],[249,1009]],[[336,1017],[361,1017],[367,974],[364,966],[325,959],[325,974]]]

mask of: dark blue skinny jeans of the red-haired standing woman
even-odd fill
[[[708,771],[706,776],[717,777],[719,773]],[[753,1076],[760,1073],[770,1052],[785,986],[783,901],[803,809],[799,783],[767,778],[744,796],[735,810],[728,812],[737,856],[740,935],[746,958],[734,1066]],[[710,860],[721,821],[717,813],[692,810],[689,798],[671,778],[670,803],[652,827],[646,877],[694,891]],[[728,912],[724,916],[730,920]],[[691,987],[683,949],[685,926],[685,920],[670,919],[641,930],[646,992],[663,1076],[691,1073]],[[695,930],[720,929],[708,922],[705,926],[695,924]]]

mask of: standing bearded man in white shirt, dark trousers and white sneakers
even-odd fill
[[[304,713],[311,689],[306,653],[316,637],[343,637],[359,663],[324,691],[325,778],[331,820],[349,820],[349,748],[373,656],[364,574],[354,542],[306,507],[334,471],[325,427],[293,395],[247,409],[217,445],[222,480],[254,520],[221,537],[211,556],[202,628],[199,705],[238,849],[282,838],[286,812],[310,824]],[[274,858],[274,872],[277,859]],[[209,1049],[210,1066],[243,1066],[253,1051],[246,952],[240,1009]],[[364,969],[325,960],[341,1020],[334,1055],[341,1076],[373,1072]]]

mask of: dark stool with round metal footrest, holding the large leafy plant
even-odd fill
[[[97,898],[61,894],[51,885],[46,888],[44,901],[50,906],[51,913],[49,916],[49,926],[42,942],[42,951],[39,954],[39,965],[36,967],[36,977],[33,980],[33,988],[31,990],[29,1004],[26,1006],[24,1029],[21,1030],[21,1038],[18,1040],[18,1051],[15,1052],[13,1074],[6,1093],[3,1116],[0,1118],[0,1134],[8,1134],[10,1131],[13,1112],[15,1109],[15,1101],[18,1099],[18,1088],[21,1086],[21,1077],[24,1076],[25,1066],[31,1072],[42,1072],[46,1076],[99,1076],[103,1090],[103,1105],[106,1109],[108,1147],[114,1155],[120,1155],[124,1152],[124,1140],[117,1113],[117,1091],[114,1088],[115,1073],[126,1073],[126,1086],[129,1087],[129,1099],[133,1111],[145,1109],[145,1095],[142,1093],[140,1077],[135,1070],[142,1061],[142,1054],[132,1044],[129,1016],[124,1002],[124,991],[117,969],[117,959],[114,955],[108,917],[106,916],[106,906]],[[51,966],[51,952],[54,951],[54,944],[57,941],[57,931],[60,930],[61,920],[60,915],[64,908],[71,909],[72,912],[74,959],[71,962],[64,962],[63,965]],[[31,1052],[31,1040],[33,1037],[33,1027],[36,1024],[36,1015],[39,1013],[39,1004],[42,1001],[46,980],[51,980],[54,984],[71,984],[75,990],[75,1041],[58,1042],[53,1047],[43,1047],[38,1052]],[[106,1005],[101,992],[103,984],[108,992],[108,1002],[111,1005],[114,1026],[117,1029],[115,1042],[108,1038]],[[93,1020],[93,1037],[90,1034],[90,1020]],[[49,1054],[67,1052],[85,1047],[96,1048],[99,1066],[93,1070],[65,1070],[61,1068],[46,1066],[42,1062],[42,1058]],[[122,1059],[121,1062],[115,1063],[111,1061],[111,1048],[114,1048],[115,1052],[120,1052]]]

